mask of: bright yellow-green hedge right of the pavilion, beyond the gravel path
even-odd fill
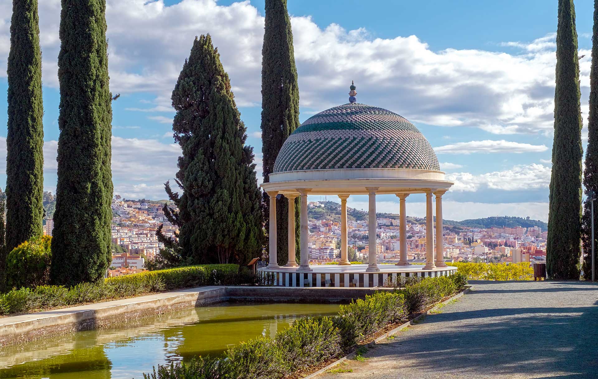
[[[533,280],[533,267],[529,262],[521,263],[447,263],[457,267],[458,273],[473,280]]]

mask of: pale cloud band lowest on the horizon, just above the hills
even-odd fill
[[[426,203],[424,198],[410,195],[407,198],[407,215],[416,217],[426,216]],[[364,198],[364,200],[362,200]],[[311,199],[309,199],[312,201]],[[318,199],[314,199],[318,200]],[[329,199],[337,201],[337,199]],[[367,197],[352,196],[347,199],[347,206],[368,210]],[[380,212],[399,213],[398,201],[376,201],[376,209]],[[443,199],[443,218],[453,221],[462,221],[470,218],[484,218],[491,216],[518,216],[531,219],[548,221],[548,203],[477,203],[468,201],[460,203]]]

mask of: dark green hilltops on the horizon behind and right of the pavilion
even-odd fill
[[[307,211],[307,216],[312,219],[322,220],[329,219],[332,221],[340,221],[340,204],[334,201],[318,201],[324,207],[310,208]],[[377,218],[398,219],[399,215],[396,213],[376,213]],[[362,221],[368,218],[368,212],[351,207],[347,207],[347,219],[350,221]],[[421,217],[407,216],[407,222],[410,224],[425,224],[426,219]],[[444,220],[443,224],[449,229],[458,231],[460,227],[468,228],[492,228],[492,227],[540,227],[542,231],[548,230],[548,224],[544,221],[532,220],[529,217],[511,217],[511,216],[495,216],[487,218],[467,219],[463,221]]]

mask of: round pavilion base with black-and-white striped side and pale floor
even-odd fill
[[[437,267],[424,270],[423,265],[397,266],[380,264],[378,272],[367,272],[367,264],[312,265],[312,271],[299,271],[299,267],[258,268],[264,280],[273,280],[275,286],[285,287],[362,287],[383,286],[390,278],[449,276],[457,272],[456,267]]]

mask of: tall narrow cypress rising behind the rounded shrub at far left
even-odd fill
[[[13,0],[8,54],[7,248],[42,234],[44,108],[37,0]]]

